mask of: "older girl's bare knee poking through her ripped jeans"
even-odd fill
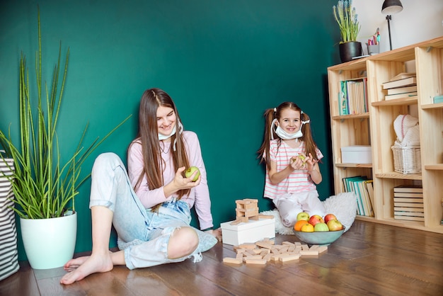
[[[168,243],[168,258],[176,259],[189,256],[198,246],[198,234],[192,227],[176,229]]]

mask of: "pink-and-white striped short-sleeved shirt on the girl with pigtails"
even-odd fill
[[[304,142],[297,148],[289,147],[284,141],[278,147],[278,140],[270,141],[269,157],[271,161],[277,163],[277,172],[282,171],[289,165],[291,157],[305,153]],[[316,148],[317,159],[323,158],[320,149]],[[265,156],[264,156],[265,157]],[[269,171],[266,169],[265,198],[274,199],[277,196],[287,193],[299,193],[316,190],[316,184],[311,180],[307,170],[293,171],[287,178],[278,184],[272,184],[269,178]]]

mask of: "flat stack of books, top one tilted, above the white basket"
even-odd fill
[[[383,84],[383,89],[387,90],[384,99],[393,100],[395,98],[406,98],[417,96],[417,78],[415,73],[401,73]]]

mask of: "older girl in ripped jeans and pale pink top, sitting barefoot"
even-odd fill
[[[211,202],[200,142],[184,131],[176,105],[161,89],[144,91],[139,132],[127,151],[128,171],[113,153],[100,154],[91,175],[92,254],[64,265],[70,284],[115,265],[144,268],[194,258],[221,239],[212,230]],[[185,178],[190,166],[200,169]],[[190,226],[195,206],[200,229]],[[109,251],[111,225],[120,251]]]

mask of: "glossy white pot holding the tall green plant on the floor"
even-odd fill
[[[64,266],[74,256],[77,213],[50,219],[20,218],[21,237],[29,264],[34,269]]]

